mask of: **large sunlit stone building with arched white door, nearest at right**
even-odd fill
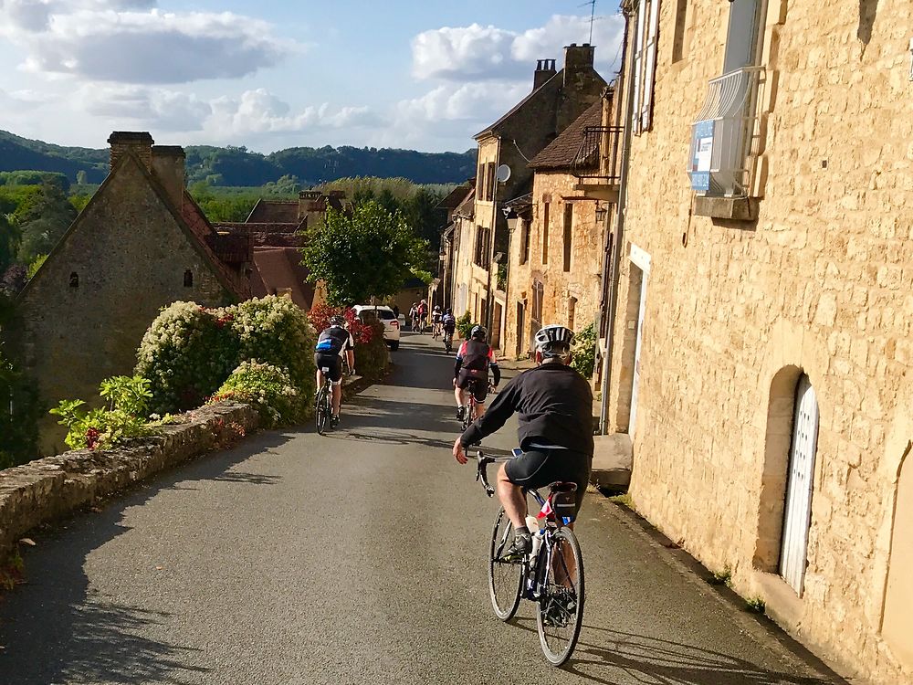
[[[624,9],[604,409],[636,508],[819,653],[911,682],[911,6]]]

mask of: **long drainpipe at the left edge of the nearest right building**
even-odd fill
[[[618,305],[618,269],[621,264],[622,244],[624,243],[624,205],[627,204],[627,175],[628,163],[631,157],[631,119],[634,115],[634,81],[628,79],[624,84],[625,68],[627,66],[628,55],[628,36],[630,34],[632,17],[636,16],[632,7],[624,7],[624,38],[622,44],[622,79],[625,86],[624,94],[624,138],[622,142],[622,159],[621,173],[618,179],[618,206],[617,216],[615,219],[614,240],[611,234],[606,231],[606,241],[612,240],[612,269],[610,271],[608,302],[606,303],[606,314],[608,317],[605,328],[605,356],[603,357],[603,384],[602,393],[603,401],[599,411],[599,432],[602,435],[608,433],[608,416],[609,416],[609,377],[612,375],[612,353],[614,348],[614,330],[615,330],[615,313]],[[606,246],[608,248],[608,246]]]

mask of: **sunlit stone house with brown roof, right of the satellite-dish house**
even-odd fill
[[[542,325],[580,331],[596,321],[610,203],[584,194],[576,174],[587,136],[600,131],[603,110],[609,109],[611,98],[584,111],[530,162],[532,193],[505,203],[510,248],[504,354],[530,353]]]

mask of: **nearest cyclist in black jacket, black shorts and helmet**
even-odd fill
[[[488,411],[456,439],[454,458],[467,462],[466,449],[519,414],[523,454],[498,469],[498,499],[513,523],[516,538],[505,558],[530,553],[523,488],[542,488],[557,480],[577,484],[580,510],[593,465],[593,393],[571,363],[573,332],[546,326],[536,333],[539,364],[513,378]]]

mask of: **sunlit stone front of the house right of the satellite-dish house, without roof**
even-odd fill
[[[567,172],[537,173],[533,177],[529,260],[522,262],[525,227],[510,237],[507,321],[501,351],[508,356],[530,351],[532,285],[543,285],[542,324],[561,323],[580,331],[595,321],[602,282],[604,230],[597,226],[596,203],[579,198],[579,181]],[[548,258],[543,263],[544,205],[549,204]],[[564,270],[565,211],[572,211],[571,269]],[[523,311],[522,331],[518,304]],[[518,340],[519,339],[519,340]]]

